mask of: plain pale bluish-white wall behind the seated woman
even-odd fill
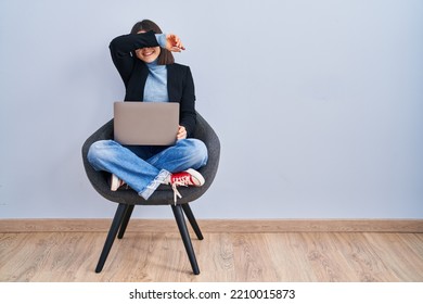
[[[0,218],[113,216],[80,148],[124,96],[108,42],[142,18],[182,37],[221,139],[198,218],[423,218],[422,16],[419,0],[3,0]]]

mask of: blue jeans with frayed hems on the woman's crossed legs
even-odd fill
[[[197,169],[207,163],[207,148],[198,139],[181,139],[175,145],[121,145],[114,140],[91,144],[88,161],[95,170],[116,175],[148,200],[171,173]]]

